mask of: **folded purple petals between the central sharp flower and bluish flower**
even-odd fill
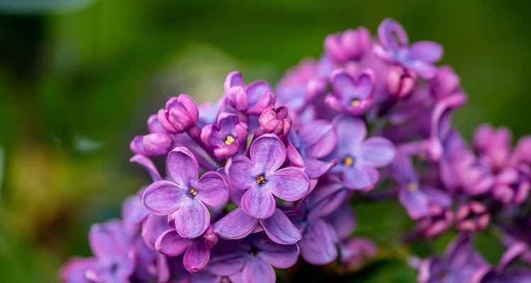
[[[337,163],[336,160],[323,161],[336,145],[335,126],[328,120],[313,120],[303,125],[300,131],[291,132],[288,158],[294,165],[304,166],[308,178],[316,179]]]

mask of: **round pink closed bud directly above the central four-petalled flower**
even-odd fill
[[[276,134],[279,137],[285,137],[291,129],[291,120],[288,117],[288,108],[281,106],[274,109],[267,108],[258,118],[260,129],[264,133]]]

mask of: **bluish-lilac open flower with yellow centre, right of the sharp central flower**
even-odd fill
[[[367,136],[362,120],[340,116],[334,121],[337,129],[337,147],[332,157],[337,158],[334,172],[342,173],[345,186],[352,190],[371,190],[379,179],[376,168],[389,165],[396,149],[388,139]]]

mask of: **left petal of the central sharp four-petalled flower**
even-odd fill
[[[225,172],[231,188],[247,190],[253,185],[255,176],[252,174],[252,161],[243,155],[236,155],[229,159]]]

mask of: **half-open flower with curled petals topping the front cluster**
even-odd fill
[[[225,79],[226,104],[250,115],[260,115],[274,105],[276,96],[266,81],[255,81],[245,86],[239,71],[233,71]]]

